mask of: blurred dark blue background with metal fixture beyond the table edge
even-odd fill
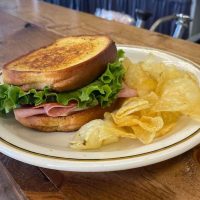
[[[200,43],[200,0],[44,0]]]

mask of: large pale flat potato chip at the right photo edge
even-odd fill
[[[159,91],[160,99],[154,106],[155,111],[179,111],[190,115],[199,108],[199,86],[189,78],[167,80]]]

